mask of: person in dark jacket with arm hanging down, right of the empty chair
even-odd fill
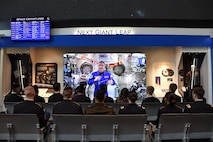
[[[167,92],[164,99],[165,99],[164,101],[166,105],[162,106],[158,111],[158,117],[156,120],[157,125],[159,123],[160,116],[164,113],[182,113],[182,108],[179,106],[176,106],[177,100],[174,93]]]

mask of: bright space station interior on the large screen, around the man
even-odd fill
[[[85,93],[93,99],[94,85],[87,81],[104,61],[116,85],[108,85],[108,96],[114,100],[122,88],[135,90],[139,100],[146,95],[146,56],[144,53],[67,53],[64,54],[64,86],[76,88],[85,84]]]

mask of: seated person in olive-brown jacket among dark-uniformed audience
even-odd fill
[[[85,114],[102,114],[112,115],[115,114],[114,108],[109,105],[105,105],[104,100],[106,94],[103,90],[97,90],[95,92],[95,104],[89,105],[85,109]]]

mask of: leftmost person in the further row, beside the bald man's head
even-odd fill
[[[4,102],[21,102],[24,101],[23,97],[20,95],[20,85],[13,84],[12,91],[7,94],[4,98]]]

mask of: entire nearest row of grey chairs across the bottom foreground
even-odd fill
[[[213,114],[163,114],[153,141],[208,139],[213,141]],[[0,114],[0,140],[36,140],[44,133],[34,114]],[[49,141],[149,141],[147,115],[53,114]]]

